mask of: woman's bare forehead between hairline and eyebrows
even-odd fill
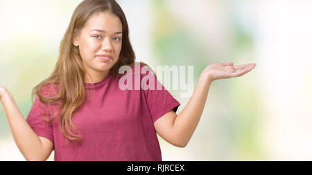
[[[120,32],[123,29],[121,20],[110,12],[98,12],[87,20],[84,27],[86,32],[93,29],[105,30],[107,33]]]

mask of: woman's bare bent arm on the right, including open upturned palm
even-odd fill
[[[256,64],[233,66],[232,62],[215,63],[207,66],[200,74],[196,88],[189,102],[179,115],[169,111],[155,121],[155,130],[172,145],[185,147],[193,135],[204,110],[211,82],[230,77],[241,77]]]

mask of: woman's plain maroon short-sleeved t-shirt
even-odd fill
[[[110,74],[94,83],[95,91],[92,91],[91,84],[84,84],[87,98],[73,115],[73,124],[83,137],[81,145],[66,142],[60,131],[60,114],[51,124],[46,124],[40,116],[40,113],[53,116],[58,109],[56,104],[43,104],[35,98],[26,121],[38,136],[53,142],[55,161],[162,160],[154,122],[168,111],[176,112],[180,102],[157,79],[155,84],[160,84],[162,90],[146,89],[146,86],[146,90],[135,90],[135,67],[132,66],[130,75],[133,90],[120,89],[121,77]],[[139,66],[140,72],[142,67]],[[144,77],[153,76],[148,72],[139,75],[139,82]]]

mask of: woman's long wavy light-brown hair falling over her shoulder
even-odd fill
[[[80,33],[89,17],[97,12],[106,11],[119,17],[123,25],[121,53],[116,64],[110,68],[109,73],[122,76],[119,75],[119,68],[121,66],[133,66],[135,64],[135,53],[130,44],[128,22],[119,4],[114,0],[85,0],[73,12],[69,26],[60,43],[60,55],[53,73],[33,88],[32,100],[33,96],[37,95],[40,102],[44,104],[60,104],[60,107],[52,118],[48,118],[44,114],[41,116],[45,122],[51,123],[58,116],[58,113],[62,111],[60,113],[60,130],[62,131],[62,135],[67,138],[67,142],[72,140],[80,144],[80,133],[73,125],[72,116],[78,107],[83,104],[85,95],[87,94],[83,84],[86,72],[83,68],[79,48],[72,43],[73,35]],[[144,63],[142,62],[141,64]],[[53,96],[49,95],[49,97],[42,95],[42,91],[44,91],[43,87],[48,84],[53,85],[54,88],[56,88],[55,84],[59,84],[58,93]],[[46,93],[51,94],[49,93],[49,89]],[[72,129],[78,133],[73,133]]]

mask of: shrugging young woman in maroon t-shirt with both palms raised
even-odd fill
[[[116,1],[81,2],[60,44],[55,70],[33,89],[37,97],[26,120],[10,92],[0,86],[12,135],[26,160],[46,160],[53,149],[55,160],[162,160],[156,133],[185,147],[211,82],[245,75],[256,64],[207,66],[179,115],[180,103],[163,86],[120,89],[119,80],[126,75],[119,68],[141,71],[144,65],[135,66],[127,20]],[[140,80],[149,75],[139,74]]]

